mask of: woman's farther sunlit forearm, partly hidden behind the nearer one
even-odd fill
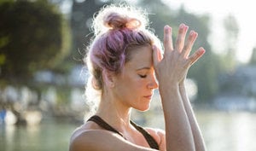
[[[186,89],[184,84],[179,85],[179,91],[183,100],[183,105],[185,108],[185,112],[189,119],[189,124],[191,127],[191,131],[193,133],[194,141],[195,141],[195,150],[196,151],[205,151],[205,143],[203,141],[203,137],[201,135],[201,131],[199,128],[199,125],[195,119],[195,113],[193,112],[193,108],[191,107],[191,104],[189,102],[189,97],[186,93]]]

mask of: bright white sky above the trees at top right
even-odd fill
[[[236,17],[239,34],[236,44],[236,57],[238,61],[249,61],[252,50],[256,47],[256,7],[252,0],[164,0],[172,9],[184,8],[194,14],[208,14],[212,17],[211,38],[212,48],[221,53],[224,51],[224,36],[219,34],[224,31],[224,17]]]

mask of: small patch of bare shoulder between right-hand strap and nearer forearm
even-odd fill
[[[154,140],[159,144],[160,150],[166,150],[166,131],[154,128],[145,128],[148,133],[154,137]]]

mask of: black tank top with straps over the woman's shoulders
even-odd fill
[[[90,119],[88,119],[87,121],[93,121],[97,125],[101,126],[103,129],[108,130],[108,131],[113,131],[113,132],[119,134],[119,136],[124,137],[119,131],[116,131],[111,125],[108,125],[107,122],[105,122],[102,118],[100,118],[97,115],[90,117]],[[159,150],[158,143],[154,140],[154,137],[148,133],[148,131],[144,130],[143,127],[135,124],[134,122],[132,122],[132,121],[130,121],[130,122],[131,122],[131,125],[133,125],[137,129],[137,131],[140,131],[143,134],[143,136],[147,140],[150,148]]]

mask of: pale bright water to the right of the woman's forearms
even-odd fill
[[[256,113],[197,113],[209,151],[255,151]]]

